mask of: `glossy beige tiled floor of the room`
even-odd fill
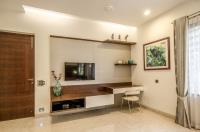
[[[98,110],[0,122],[0,132],[193,132],[154,112]],[[197,132],[197,131],[195,131]],[[198,131],[199,132],[199,131]]]

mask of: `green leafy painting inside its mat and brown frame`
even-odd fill
[[[166,66],[166,49],[162,45],[146,49],[147,67]]]

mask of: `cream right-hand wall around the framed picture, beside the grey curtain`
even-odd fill
[[[173,24],[175,19],[192,14],[200,10],[199,0],[190,0],[169,12],[149,21],[138,28],[138,44],[132,48],[132,58],[138,63],[133,69],[133,83],[141,83],[145,86],[143,104],[175,115],[176,111],[176,83],[174,64]],[[152,12],[153,13],[153,12]],[[171,69],[158,71],[143,70],[143,44],[164,37],[170,37]],[[155,79],[159,83],[155,83]]]

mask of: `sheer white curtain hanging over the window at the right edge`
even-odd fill
[[[189,18],[186,54],[190,121],[200,129],[200,16]]]

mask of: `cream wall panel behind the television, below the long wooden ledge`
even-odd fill
[[[130,82],[130,67],[115,66],[118,59],[131,58],[130,46],[104,44],[63,38],[50,39],[50,69],[64,75],[65,62],[95,63],[95,80],[64,81],[62,85]],[[51,78],[51,85],[54,84]]]

